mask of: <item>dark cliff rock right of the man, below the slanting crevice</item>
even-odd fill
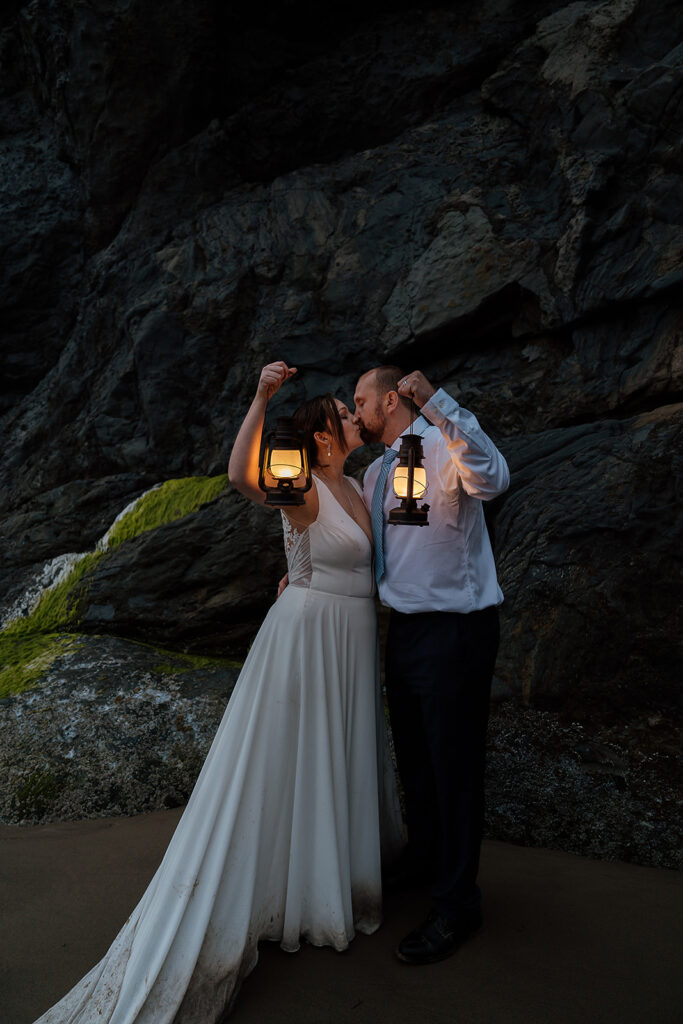
[[[510,445],[500,693],[677,707],[682,426],[678,404]]]

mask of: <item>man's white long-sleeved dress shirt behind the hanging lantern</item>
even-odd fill
[[[403,612],[468,612],[500,604],[503,592],[481,502],[507,490],[508,464],[476,417],[441,388],[422,413],[433,424],[423,416],[413,424],[425,454],[428,489],[419,504],[429,505],[429,525],[387,522],[399,504],[392,468],[384,495],[386,569],[379,583],[380,600]],[[400,437],[391,446],[398,451]],[[366,471],[362,497],[368,509],[381,465],[380,457]]]

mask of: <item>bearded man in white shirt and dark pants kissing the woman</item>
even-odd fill
[[[503,600],[482,502],[510,475],[475,417],[419,371],[371,370],[354,402],[362,439],[387,445],[368,468],[364,499],[380,600],[391,608],[386,690],[409,835],[398,881],[432,884],[431,912],[396,953],[431,964],[481,924],[484,748]],[[398,504],[391,463],[411,424],[422,437],[429,525],[399,529],[387,523]]]

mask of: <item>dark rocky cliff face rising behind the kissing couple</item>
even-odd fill
[[[497,693],[668,711],[680,4],[227,6],[1,15],[0,601],[153,484],[224,472],[265,360],[299,367],[286,409],[399,361],[511,464]],[[239,653],[278,528],[225,494],[135,537],[70,628]]]

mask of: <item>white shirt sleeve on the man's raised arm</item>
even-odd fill
[[[510,470],[477,421],[476,416],[463,409],[443,388],[439,388],[422,414],[438,427],[450,456],[441,470],[441,483],[447,490],[459,484],[468,495],[481,501],[490,501],[502,495],[510,485]]]

